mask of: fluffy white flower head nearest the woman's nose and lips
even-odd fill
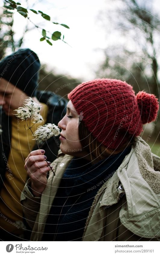
[[[55,124],[40,125],[36,131],[33,133],[33,140],[45,141],[53,136],[58,136],[60,134],[60,129]]]

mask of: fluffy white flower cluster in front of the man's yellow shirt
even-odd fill
[[[22,121],[33,116],[33,123],[40,123],[43,121],[42,116],[39,114],[40,109],[41,106],[39,104],[32,100],[31,97],[27,97],[24,101],[24,107],[20,107],[14,111],[17,111],[17,114],[15,115],[22,119]]]

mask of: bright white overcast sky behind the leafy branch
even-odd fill
[[[155,4],[158,0],[155,1]],[[25,1],[19,1],[25,7]],[[64,40],[52,41],[53,46],[49,46],[45,41],[40,42],[41,37],[37,29],[25,34],[23,48],[30,48],[37,53],[41,63],[48,66],[49,70],[61,74],[69,74],[73,77],[90,80],[96,77],[94,71],[105,60],[105,55],[101,50],[111,46],[114,41],[114,32],[107,34],[109,23],[103,20],[105,25],[99,21],[100,12],[105,8],[114,8],[114,0],[42,0],[28,1],[35,3],[33,9],[41,10],[51,16],[51,20],[67,24],[70,29],[59,25],[50,24],[40,15],[30,13],[34,23],[38,23],[46,30],[54,32],[61,31]],[[147,1],[149,2],[149,1]],[[2,1],[1,1],[2,3]],[[157,2],[158,3],[158,2]],[[30,5],[31,7],[31,5]],[[103,17],[103,19],[105,19]],[[26,20],[20,14],[14,14],[15,40],[20,38]],[[31,25],[32,26],[32,25]],[[116,39],[116,38],[115,38]]]

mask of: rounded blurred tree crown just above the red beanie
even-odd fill
[[[104,52],[105,62],[99,65],[96,71],[97,77],[110,77],[127,81],[127,83],[132,84],[136,93],[140,90],[151,93],[150,64],[146,63],[144,58],[121,47],[107,48]]]

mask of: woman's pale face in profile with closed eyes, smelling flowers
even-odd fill
[[[84,156],[84,150],[80,144],[78,125],[79,115],[74,108],[71,100],[67,104],[67,113],[58,123],[58,127],[62,129],[60,149],[64,154],[71,156]]]

